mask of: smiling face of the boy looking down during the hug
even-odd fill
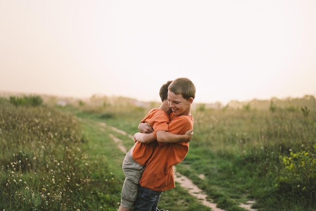
[[[191,115],[190,105],[193,102],[193,98],[187,100],[182,95],[176,95],[175,93],[168,91],[168,103],[172,112],[177,115]]]

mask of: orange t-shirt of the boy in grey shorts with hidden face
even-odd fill
[[[168,113],[160,108],[151,109],[141,120],[141,122],[147,122],[154,131],[167,131],[169,121],[170,117]],[[153,141],[149,144],[143,144],[136,141],[132,152],[133,159],[141,165],[146,165],[147,160],[152,155],[152,152],[156,146],[156,141]]]

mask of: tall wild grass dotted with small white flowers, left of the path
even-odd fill
[[[116,210],[121,181],[83,152],[84,141],[72,114],[2,101],[1,210]]]

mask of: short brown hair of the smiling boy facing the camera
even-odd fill
[[[184,99],[195,98],[195,86],[193,82],[186,77],[180,77],[172,81],[168,90],[176,95],[182,95]]]

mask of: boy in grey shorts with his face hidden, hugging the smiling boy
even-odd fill
[[[148,123],[153,130],[165,130],[168,128],[170,121],[171,109],[168,105],[168,86],[172,81],[165,83],[160,89],[160,97],[162,104],[159,108],[151,109],[141,122]],[[167,136],[172,142],[186,142],[192,139],[192,130],[188,131],[184,135],[170,134]],[[156,141],[152,141],[148,144],[137,142],[135,139],[134,146],[128,151],[123,160],[123,172],[125,174],[125,180],[123,183],[121,204],[118,211],[131,211],[133,204],[137,196],[137,190],[139,185],[139,179],[144,171],[148,158],[152,155],[153,150],[157,146]]]

